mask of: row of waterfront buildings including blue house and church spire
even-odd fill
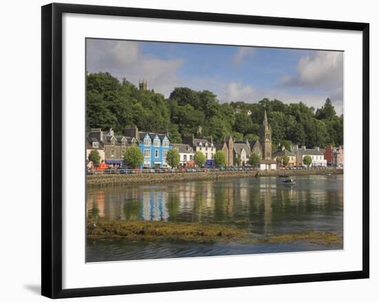
[[[116,167],[123,167],[123,155],[128,147],[136,145],[143,154],[143,165],[146,168],[167,167],[167,151],[172,148],[178,150],[180,166],[195,166],[194,155],[200,151],[205,155],[206,166],[214,165],[214,154],[223,151],[227,166],[245,166],[248,164],[252,153],[260,155],[260,169],[276,169],[281,165],[282,159],[289,158],[289,166],[303,165],[303,158],[311,156],[311,166],[341,166],[343,164],[342,147],[327,146],[325,149],[318,147],[307,149],[294,146],[291,151],[284,147],[272,153],[272,131],[267,120],[267,114],[260,126],[259,140],[249,142],[236,141],[232,136],[227,136],[223,143],[213,142],[212,138],[195,138],[193,134],[183,136],[183,144],[170,142],[168,132],[139,131],[137,127],[127,127],[123,136],[115,135],[114,131],[102,131],[92,129],[87,133],[86,149],[87,157],[92,150],[99,151],[101,162]],[[88,163],[91,166],[91,163]]]

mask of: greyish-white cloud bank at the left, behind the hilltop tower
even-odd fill
[[[88,72],[109,72],[134,84],[138,84],[139,78],[147,78],[147,86],[165,96],[178,86],[177,71],[183,63],[181,58],[165,60],[143,54],[139,43],[134,41],[87,41]]]

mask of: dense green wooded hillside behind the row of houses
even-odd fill
[[[139,90],[123,78],[120,82],[108,73],[87,76],[87,127],[110,129],[122,133],[136,125],[141,131],[169,131],[171,142],[181,142],[182,135],[194,133],[197,138],[222,142],[232,135],[240,140],[258,138],[264,110],[272,127],[276,145],[305,144],[325,147],[343,144],[343,116],[327,98],[315,110],[305,103],[285,104],[280,100],[258,103],[219,103],[211,91],[194,91],[177,87],[166,99],[154,90]],[[247,111],[251,111],[251,116]]]

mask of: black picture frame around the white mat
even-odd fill
[[[362,270],[273,277],[218,279],[97,288],[62,289],[62,14],[97,14],[362,32]],[[52,3],[42,7],[42,278],[41,292],[50,298],[100,296],[173,290],[301,283],[369,278],[369,24],[209,12],[183,12]]]

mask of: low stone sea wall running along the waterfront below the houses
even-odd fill
[[[342,169],[269,170],[269,171],[203,171],[176,173],[135,173],[111,175],[87,175],[88,186],[115,186],[120,184],[151,184],[159,182],[183,182],[190,180],[225,180],[238,177],[286,175],[342,174]]]

